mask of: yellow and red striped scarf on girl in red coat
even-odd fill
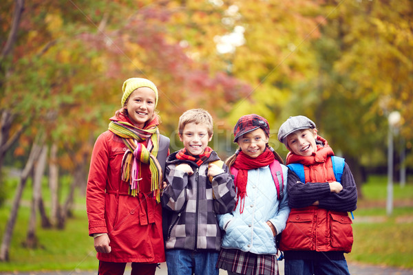
[[[140,129],[129,122],[111,121],[109,131],[122,138],[128,150],[122,159],[122,180],[129,183],[129,195],[136,197],[139,193],[139,181],[142,179],[141,164],[149,164],[151,170],[151,192],[160,202],[162,189],[162,168],[156,159],[159,146],[158,119],[154,118]],[[145,146],[147,141],[147,146]]]

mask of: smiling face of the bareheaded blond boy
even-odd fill
[[[191,122],[184,126],[182,135],[179,134],[179,139],[184,143],[189,154],[201,155],[207,148],[208,142],[212,140],[212,135],[209,136],[207,126]]]

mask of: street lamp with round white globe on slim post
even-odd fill
[[[388,116],[388,197],[386,212],[390,216],[393,212],[393,132],[398,126],[401,115],[398,111],[392,111]]]

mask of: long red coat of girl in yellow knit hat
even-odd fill
[[[116,263],[165,262],[162,238],[162,206],[148,197],[151,173],[142,164],[138,197],[127,195],[128,183],[120,179],[127,147],[114,133],[105,131],[94,145],[87,180],[89,235],[109,234],[110,253],[98,253],[99,261]]]

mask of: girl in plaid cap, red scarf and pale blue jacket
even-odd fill
[[[268,146],[269,134],[267,120],[255,114],[242,116],[234,128],[240,148],[226,164],[235,174],[237,204],[218,217],[225,233],[217,266],[230,275],[278,274],[275,236],[290,212],[288,168]]]

